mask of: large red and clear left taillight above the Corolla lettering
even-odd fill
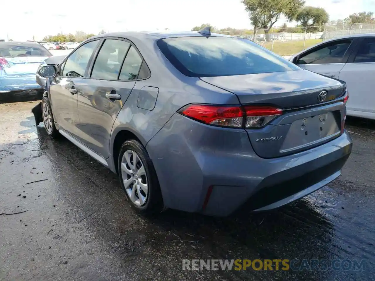
[[[259,128],[270,123],[282,110],[271,106],[218,106],[192,104],[178,113],[206,124],[236,127]],[[244,118],[245,124],[244,124]]]

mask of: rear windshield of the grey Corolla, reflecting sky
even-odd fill
[[[229,76],[300,70],[248,39],[177,37],[157,42],[165,57],[190,77]]]

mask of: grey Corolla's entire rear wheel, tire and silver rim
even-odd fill
[[[118,155],[118,174],[132,206],[144,213],[157,213],[163,199],[156,172],[144,146],[137,140],[123,143]]]

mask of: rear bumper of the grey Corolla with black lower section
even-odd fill
[[[254,153],[245,130],[207,126],[179,114],[146,146],[166,206],[218,216],[243,204],[261,211],[308,195],[341,174],[351,148],[345,132],[308,151],[264,159]]]

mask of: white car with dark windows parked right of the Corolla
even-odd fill
[[[347,82],[347,115],[375,120],[375,34],[333,38],[289,60],[303,69]]]

